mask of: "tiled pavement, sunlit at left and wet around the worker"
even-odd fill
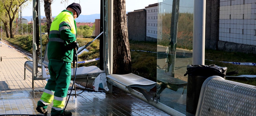
[[[3,41],[1,41],[3,42]],[[28,60],[23,53],[7,47],[0,43],[0,54],[2,61],[0,62],[0,115],[8,114],[38,114],[35,111],[37,101],[40,99],[44,91],[47,81],[35,80],[34,88],[32,86],[32,74],[26,72],[26,80],[24,80],[24,63]],[[114,88],[113,88],[114,89]],[[169,91],[169,92],[168,92]],[[180,88],[177,92],[182,92]],[[69,91],[70,92],[70,91]],[[82,92],[78,90],[77,93]],[[166,89],[161,95],[172,95],[172,90]],[[186,95],[186,94],[184,94]],[[167,96],[168,99],[161,99],[163,102],[171,103],[174,101],[172,96]],[[180,94],[177,96],[180,97]],[[183,107],[180,112],[184,113],[184,98],[182,102],[176,106],[171,106],[179,109],[179,104]],[[173,105],[173,104],[172,104]],[[175,104],[174,104],[175,105]],[[52,104],[47,110],[50,112]],[[176,109],[176,110],[177,110]],[[86,90],[82,94],[71,96],[66,110],[72,112],[73,116],[85,115],[168,115],[165,112],[147,104],[146,102],[135,98],[126,93],[105,93]],[[179,110],[178,110],[179,111]],[[47,114],[48,116],[50,113]]]

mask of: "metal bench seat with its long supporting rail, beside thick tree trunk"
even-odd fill
[[[174,110],[160,102],[158,102],[159,95],[154,93],[151,98],[145,91],[149,92],[154,86],[156,86],[156,82],[145,79],[143,77],[137,76],[135,74],[126,74],[126,75],[107,75],[108,82],[108,93],[112,93],[112,85],[120,88],[121,90],[147,102],[150,105],[162,110],[170,115],[179,115],[185,116],[184,114]],[[136,91],[138,89],[140,92]]]

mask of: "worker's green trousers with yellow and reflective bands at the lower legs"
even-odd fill
[[[44,93],[37,105],[47,108],[53,101],[51,115],[63,112],[71,79],[71,63],[63,61],[49,61],[51,78],[47,81]]]

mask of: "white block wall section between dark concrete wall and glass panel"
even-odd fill
[[[146,7],[146,36],[157,38],[157,6]]]

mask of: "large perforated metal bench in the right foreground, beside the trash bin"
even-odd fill
[[[201,88],[197,116],[256,115],[256,86],[225,80],[219,76],[207,78]]]

